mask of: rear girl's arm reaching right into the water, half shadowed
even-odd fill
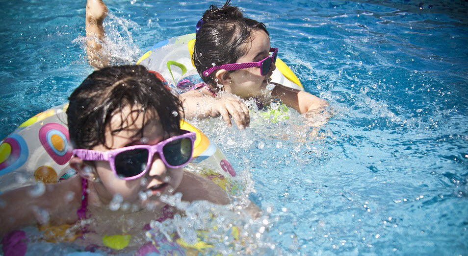
[[[329,104],[327,101],[306,93],[304,91],[288,88],[286,86],[276,84],[271,92],[275,98],[281,99],[286,106],[297,110],[299,113],[304,114],[307,112],[320,112]]]

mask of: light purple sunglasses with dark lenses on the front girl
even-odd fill
[[[192,160],[195,133],[182,130],[182,135],[160,141],[155,145],[134,145],[97,151],[91,149],[74,149],[81,160],[108,161],[114,174],[122,180],[134,180],[143,176],[151,166],[155,153],[169,168],[180,168]]]

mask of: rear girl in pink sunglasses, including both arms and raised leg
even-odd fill
[[[104,38],[106,15],[102,0],[87,0],[87,52],[90,64],[96,68],[108,65],[108,58],[100,54],[99,43]],[[259,109],[281,101],[312,117],[328,106],[325,100],[310,93],[280,84],[274,84],[271,91],[267,89],[279,49],[270,46],[265,25],[244,17],[238,7],[230,5],[230,0],[221,8],[211,5],[197,23],[196,31],[192,57],[204,84],[180,95],[187,118],[222,116],[230,126],[233,118],[243,129],[250,123],[244,100],[254,99]]]

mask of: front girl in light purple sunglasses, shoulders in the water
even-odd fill
[[[219,186],[182,169],[191,160],[195,134],[180,128],[182,103],[177,96],[143,66],[95,71],[69,100],[75,148],[70,166],[78,175],[46,184],[41,195],[32,195],[31,187],[1,194],[0,237],[34,224],[93,219],[93,225],[81,225],[78,233],[103,246],[103,235],[141,235],[150,220],[164,217],[160,195],[181,192],[188,202],[230,202]],[[128,207],[109,209],[116,199]],[[14,240],[8,238],[2,242]],[[130,245],[139,246],[142,237],[135,239],[131,236]]]

